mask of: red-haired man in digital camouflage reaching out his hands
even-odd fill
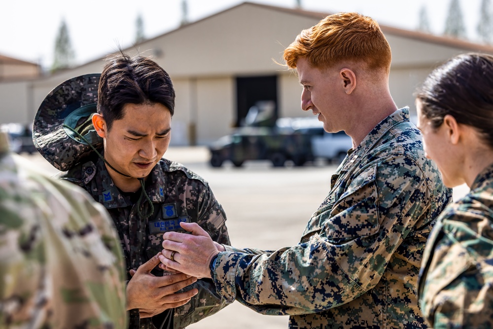
[[[302,31],[284,59],[303,86],[301,108],[318,115],[325,131],[352,138],[300,243],[238,249],[182,223],[194,235],[165,233],[161,261],[212,277],[228,302],[290,315],[289,328],[426,328],[418,273],[451,193],[425,158],[409,109],[391,98],[386,38],[370,17],[339,13]]]

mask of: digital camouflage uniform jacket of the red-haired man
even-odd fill
[[[451,196],[409,110],[380,122],[339,166],[300,243],[227,248],[214,283],[289,328],[425,328],[417,281],[426,238]]]

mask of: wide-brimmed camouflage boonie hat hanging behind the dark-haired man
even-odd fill
[[[97,110],[100,76],[92,73],[66,80],[46,96],[37,110],[34,145],[58,170],[69,170],[93,152],[87,142],[97,149],[103,148],[103,139],[91,121]]]

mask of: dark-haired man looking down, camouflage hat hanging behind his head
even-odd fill
[[[102,74],[55,88],[34,122],[39,152],[66,171],[61,178],[102,203],[116,225],[127,263],[131,329],[184,328],[226,305],[210,279],[163,276],[154,261],[163,233],[183,231],[180,222],[196,222],[214,241],[229,244],[226,215],[209,184],[162,158],[174,110],[168,73],[149,58],[120,54]]]

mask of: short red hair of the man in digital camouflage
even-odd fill
[[[390,70],[390,46],[378,23],[354,12],[330,15],[310,29],[303,30],[284,50],[290,69],[299,58],[315,68],[331,67],[342,60],[365,63],[370,70]]]

